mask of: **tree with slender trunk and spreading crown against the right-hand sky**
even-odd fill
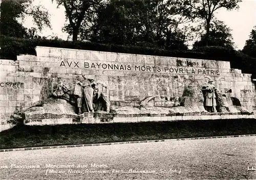
[[[225,8],[227,10],[238,9],[238,3],[242,0],[177,0],[180,2],[181,14],[191,18],[199,18],[204,20],[205,24],[205,40],[208,45],[210,36],[211,21],[215,17],[214,14],[218,9]]]

